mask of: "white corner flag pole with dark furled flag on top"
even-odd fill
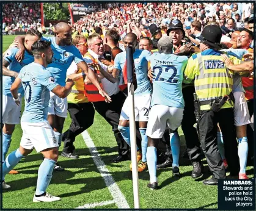
[[[127,85],[128,85],[128,99],[130,104],[129,118],[130,118],[130,140],[131,140],[131,163],[133,168],[133,198],[134,209],[139,209],[139,179],[137,172],[137,144],[136,144],[136,126],[134,114],[134,84],[133,84],[133,48],[128,46],[126,48],[126,67],[127,67]]]

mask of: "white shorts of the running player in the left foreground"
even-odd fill
[[[49,123],[21,123],[23,131],[20,146],[41,152],[44,149],[59,147]]]

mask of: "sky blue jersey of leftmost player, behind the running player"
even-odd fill
[[[26,66],[29,63],[34,62],[34,56],[32,54],[29,54],[29,52],[25,51],[24,59],[19,63],[15,59],[16,52],[18,51],[19,51],[18,48],[8,49],[4,55],[4,60],[10,63],[8,68],[9,70],[20,73],[20,70],[21,68],[23,68],[23,66]],[[14,82],[14,80],[15,80],[15,77],[2,76],[2,94],[3,95],[12,97],[12,94],[10,93],[10,87],[12,86],[12,83]],[[19,88],[18,92],[21,94],[21,96],[24,95],[22,87]]]

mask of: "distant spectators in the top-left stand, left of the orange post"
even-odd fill
[[[41,26],[40,4],[20,2],[2,5],[2,32],[6,35],[15,31],[26,32],[28,29],[39,29]]]

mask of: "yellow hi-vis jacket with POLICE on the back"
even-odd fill
[[[210,101],[221,96],[230,95],[233,88],[233,71],[225,67],[221,57],[222,52],[207,49],[193,54],[185,69],[185,83],[195,79],[195,90],[200,102]],[[236,65],[241,62],[238,58],[229,55]],[[222,109],[233,107],[230,101],[225,102]],[[210,110],[210,105],[201,105],[201,110]]]

